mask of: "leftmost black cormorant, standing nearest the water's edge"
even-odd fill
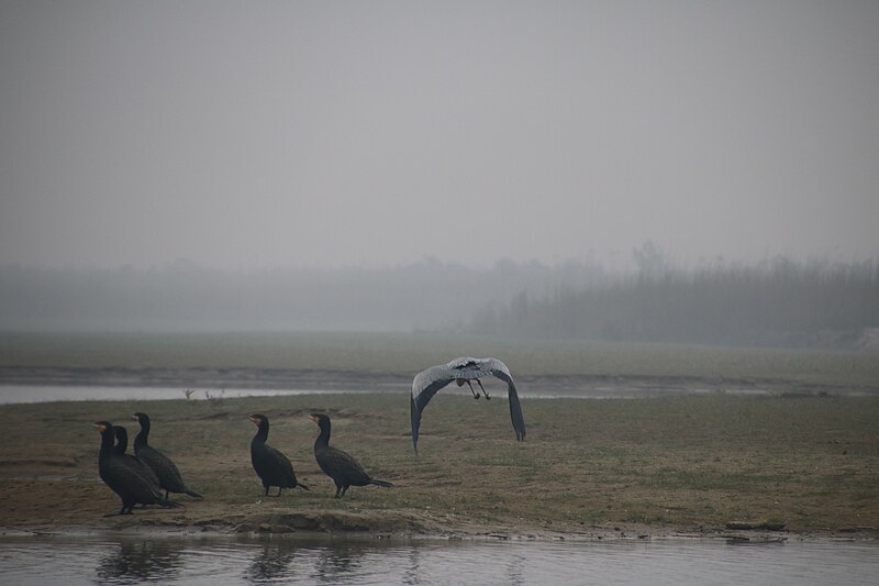
[[[101,432],[101,451],[98,453],[98,474],[101,480],[122,499],[122,508],[115,515],[131,515],[135,505],[160,505],[163,507],[179,507],[180,505],[162,498],[158,485],[152,483],[137,472],[126,461],[127,456],[120,454],[113,440],[115,432],[109,421],[94,423]]]

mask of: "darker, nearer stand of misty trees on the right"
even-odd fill
[[[581,288],[488,303],[474,330],[516,336],[853,347],[879,328],[879,265],[778,257],[754,266],[668,266],[645,245],[638,270]]]

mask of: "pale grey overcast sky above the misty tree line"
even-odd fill
[[[879,2],[0,0],[0,264],[879,254]]]

